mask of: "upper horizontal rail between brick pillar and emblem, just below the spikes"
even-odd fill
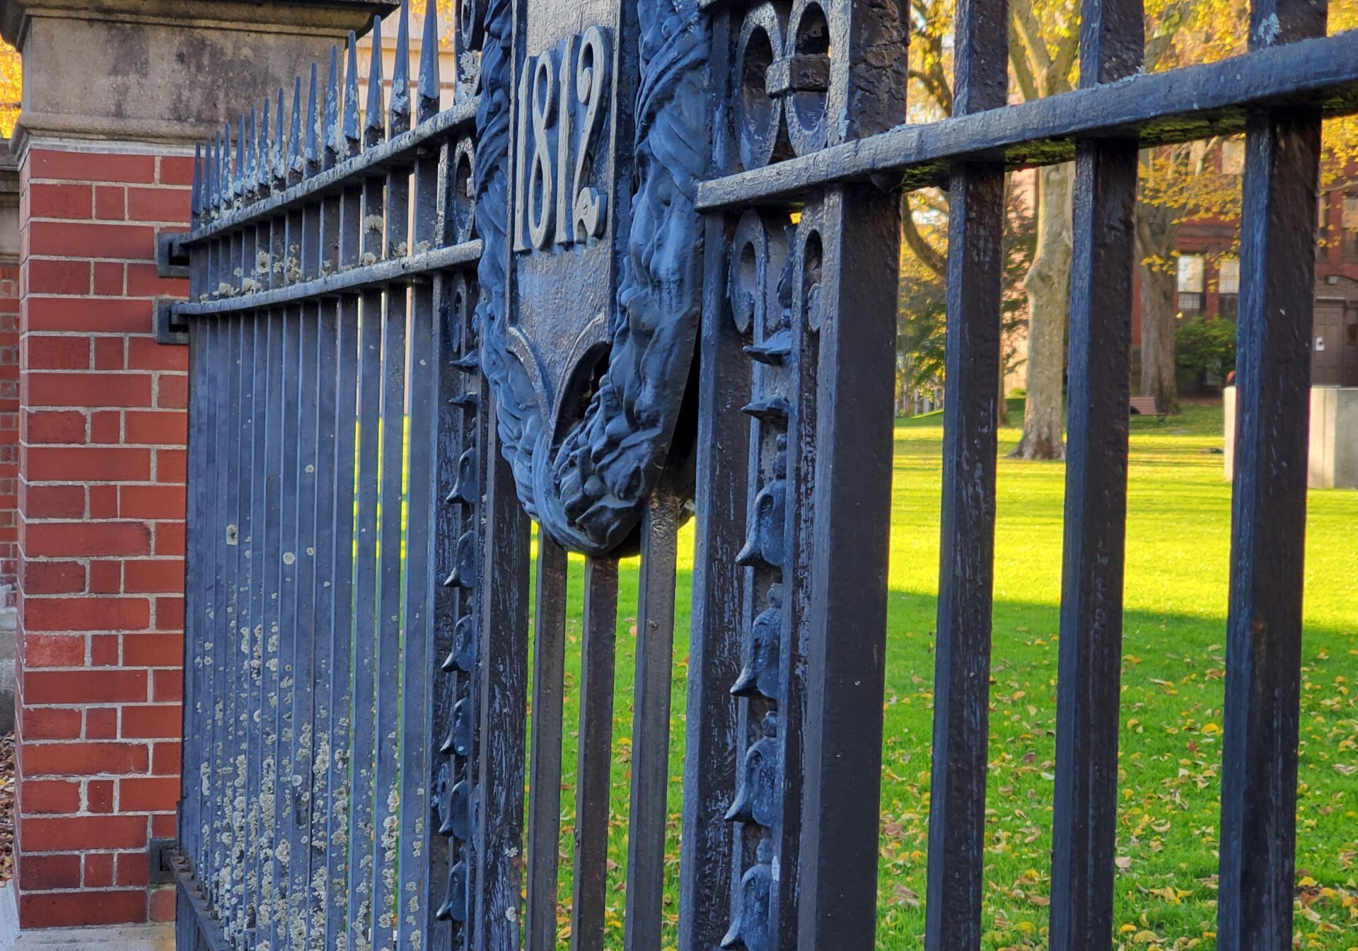
[[[350,159],[335,164],[311,178],[307,178],[284,192],[278,192],[268,198],[242,205],[238,211],[206,221],[201,228],[182,235],[174,240],[172,254],[183,254],[185,249],[198,245],[224,232],[235,231],[249,224],[255,224],[266,217],[292,211],[293,208],[315,201],[316,198],[337,193],[354,181],[368,175],[382,177],[391,168],[413,166],[420,151],[428,148],[430,143],[448,139],[462,132],[471,132],[477,120],[477,103],[479,99],[470,98],[448,110],[436,113],[409,132],[402,132],[379,145],[364,149]]]

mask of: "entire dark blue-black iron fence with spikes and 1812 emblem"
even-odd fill
[[[603,948],[637,552],[623,946],[659,951],[674,913],[683,951],[875,946],[896,192],[930,185],[952,213],[926,947],[979,947],[1004,174],[1069,159],[1050,943],[1111,947],[1137,154],[1234,132],[1217,941],[1291,947],[1320,121],[1358,109],[1358,33],[1324,37],[1323,0],[1255,0],[1247,56],[1143,75],[1142,23],[1139,0],[1084,0],[1080,90],[1010,106],[1008,5],[959,0],[955,118],[903,125],[903,0],[463,0],[447,110],[430,4],[414,83],[402,11],[390,102],[375,42],[361,109],[350,42],[206,144],[175,307],[179,947],[557,947],[570,690],[569,944]]]

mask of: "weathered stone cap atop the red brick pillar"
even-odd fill
[[[190,147],[284,88],[394,0],[0,0],[23,56],[16,137]]]

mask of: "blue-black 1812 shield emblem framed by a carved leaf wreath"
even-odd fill
[[[592,556],[634,538],[667,470],[702,300],[709,19],[695,0],[636,10],[520,52],[490,0],[479,37],[481,365],[520,501]]]

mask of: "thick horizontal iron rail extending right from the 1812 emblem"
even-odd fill
[[[1078,139],[1138,139],[1142,147],[1245,130],[1251,107],[1358,111],[1358,30],[1173,72],[1128,79],[1002,109],[903,125],[868,139],[698,186],[699,211],[786,204],[834,182],[900,175],[906,187],[945,182],[957,160],[1057,164]],[[895,185],[891,181],[891,185]]]

